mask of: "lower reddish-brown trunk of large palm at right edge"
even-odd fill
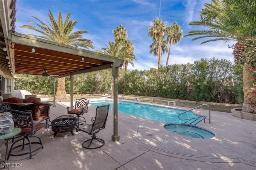
[[[244,104],[242,112],[256,114],[256,88],[252,86],[252,82],[256,82],[256,76],[252,76],[255,71],[252,64],[243,64]]]

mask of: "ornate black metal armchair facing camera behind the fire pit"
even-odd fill
[[[74,115],[77,115],[77,118],[79,121],[80,120],[80,117],[84,119],[84,122],[86,123],[86,120],[84,117],[82,117],[81,115],[84,115],[84,113],[88,113],[88,105],[89,105],[89,101],[90,100],[87,100],[85,98],[82,98],[82,99],[76,99],[76,104],[74,109],[71,109],[71,107],[67,107],[68,109],[68,114],[74,114]],[[69,110],[71,109],[71,110]]]

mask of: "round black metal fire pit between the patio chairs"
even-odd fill
[[[62,115],[50,121],[50,126],[52,126],[54,137],[57,135],[57,133],[66,132],[70,132],[72,135],[75,135],[73,130],[75,129],[75,123],[77,121],[78,119],[76,117],[69,115]]]

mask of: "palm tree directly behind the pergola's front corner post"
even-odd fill
[[[127,56],[126,52],[128,47],[122,46],[118,41],[116,42],[108,41],[108,45],[106,45],[105,48],[100,48],[100,49],[102,49],[103,53],[106,55],[117,57],[119,59],[125,59]],[[110,71],[112,72],[112,69],[110,69]],[[112,81],[114,81],[114,79]],[[113,98],[114,96],[113,89],[114,89],[114,82],[112,82],[112,92],[111,92],[110,98]]]

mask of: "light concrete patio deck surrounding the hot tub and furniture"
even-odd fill
[[[50,120],[66,114],[70,102],[57,103],[50,108]],[[173,107],[173,106],[169,106]],[[182,108],[184,107],[173,107]],[[96,107],[89,106],[85,115],[88,123],[95,115]],[[208,111],[196,109],[200,114]],[[97,136],[105,140],[99,149],[88,150],[82,142],[90,135],[83,132],[58,133],[53,137],[51,127],[36,133],[41,137],[44,149],[28,155],[10,156],[9,163],[22,167],[10,170],[255,170],[256,169],[256,121],[239,119],[231,113],[211,111],[211,125],[200,122],[199,127],[216,134],[211,139],[194,139],[171,133],[164,123],[125,113],[118,113],[120,141],[113,135],[113,111],[110,110],[106,129]],[[2,158],[6,152],[1,141]],[[9,148],[11,140],[9,140]]]

